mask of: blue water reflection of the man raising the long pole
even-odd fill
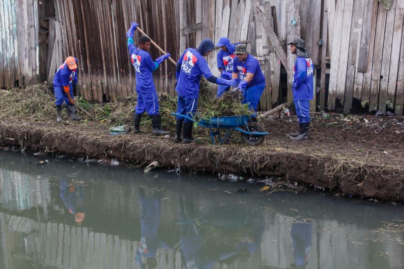
[[[147,191],[147,190],[146,190]],[[140,267],[155,268],[157,266],[156,252],[159,247],[167,248],[158,236],[161,220],[161,197],[158,194],[145,194],[140,189],[140,226],[141,239],[136,248],[136,261]],[[141,257],[146,257],[146,264]]]

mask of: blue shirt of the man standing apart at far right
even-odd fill
[[[313,71],[312,59],[297,57],[293,67],[293,100],[313,100]]]

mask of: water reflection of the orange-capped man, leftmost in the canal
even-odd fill
[[[62,179],[60,181],[60,197],[65,203],[69,213],[74,214],[76,224],[81,224],[85,217],[84,184]]]

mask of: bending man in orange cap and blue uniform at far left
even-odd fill
[[[76,105],[73,97],[73,88],[77,84],[77,58],[68,57],[66,61],[56,71],[54,77],[54,92],[56,97],[57,122],[62,121],[62,105],[66,102],[68,115],[72,120],[81,120],[82,117],[76,115]]]

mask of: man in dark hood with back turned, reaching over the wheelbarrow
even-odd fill
[[[185,49],[178,60],[176,69],[178,81],[175,88],[178,93],[177,114],[186,115],[190,118],[195,116],[199,94],[199,80],[202,75],[211,83],[237,87],[237,83],[234,80],[225,80],[212,75],[204,57],[209,56],[214,48],[215,44],[211,39],[204,39],[197,48]],[[183,117],[177,117],[174,141],[193,142],[192,125],[192,121]],[[181,139],[181,130],[183,130],[183,139]]]

